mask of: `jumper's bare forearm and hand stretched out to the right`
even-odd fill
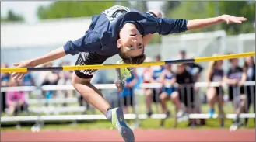
[[[247,19],[244,17],[236,17],[236,16],[230,16],[230,15],[223,15],[208,19],[192,19],[188,20],[187,23],[187,29],[203,29],[207,26],[212,26],[216,23],[223,23],[226,22],[226,24],[229,23],[243,23]]]

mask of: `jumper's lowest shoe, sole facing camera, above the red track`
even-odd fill
[[[123,110],[120,108],[114,108],[112,109],[112,127],[110,130],[113,128],[117,129],[118,132],[121,134],[121,137],[124,138],[125,142],[134,142],[135,137],[132,132],[132,129],[130,129],[125,121],[124,121],[124,113]]]

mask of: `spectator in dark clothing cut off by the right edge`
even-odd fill
[[[246,57],[244,60],[244,71],[247,74],[246,81],[255,81],[255,62],[254,57]],[[254,106],[255,113],[255,85],[247,85],[245,88],[247,95],[247,103],[245,106],[245,113],[249,113],[249,109],[252,105]],[[245,126],[247,126],[248,119],[245,119]],[[255,122],[255,119],[254,119]]]

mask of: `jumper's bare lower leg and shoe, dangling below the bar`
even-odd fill
[[[124,121],[124,113],[120,108],[111,109],[110,104],[103,99],[101,92],[90,83],[90,79],[82,79],[74,73],[72,85],[91,105],[99,109],[112,126],[118,130],[126,142],[134,142],[134,134]]]

